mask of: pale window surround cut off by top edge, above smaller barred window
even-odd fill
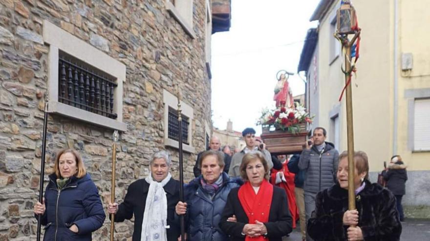
[[[182,26],[185,32],[193,39],[193,0],[175,0],[173,5],[171,0],[166,0],[166,9],[174,19]]]

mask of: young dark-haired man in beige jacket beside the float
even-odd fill
[[[246,128],[242,131],[243,139],[245,140],[246,147],[243,148],[240,152],[237,152],[232,157],[232,162],[230,164],[230,170],[228,172],[229,176],[231,177],[240,177],[240,164],[242,163],[242,157],[253,150],[258,150],[263,153],[264,158],[267,161],[267,165],[269,165],[269,170],[273,167],[272,157],[270,156],[270,152],[266,150],[266,144],[261,143],[258,146],[256,145],[256,138],[255,138],[255,130],[252,128]]]

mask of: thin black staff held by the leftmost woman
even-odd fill
[[[43,135],[42,135],[42,158],[40,169],[40,185],[39,185],[39,203],[43,203],[43,180],[45,175],[45,153],[46,153],[46,126],[48,124],[48,94],[44,94],[45,108],[43,110]],[[37,216],[37,241],[40,241],[41,236],[41,217],[42,214]]]

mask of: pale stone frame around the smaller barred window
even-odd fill
[[[179,142],[169,138],[169,107],[178,110],[178,99],[172,93],[163,89],[164,102],[164,145],[172,148],[179,148]],[[194,120],[193,108],[181,100],[181,114],[188,117],[188,143],[182,144],[182,149],[186,152],[194,153],[195,148],[192,146],[192,123]]]

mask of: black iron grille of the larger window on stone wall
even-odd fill
[[[61,103],[116,119],[113,113],[114,78],[60,52],[58,99]]]

